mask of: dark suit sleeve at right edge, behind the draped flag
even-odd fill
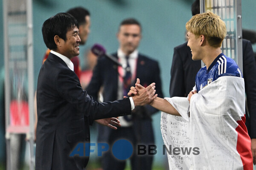
[[[243,71],[250,122],[247,125],[250,138],[256,138],[256,65],[250,41],[243,41]],[[246,120],[247,121],[247,120]]]

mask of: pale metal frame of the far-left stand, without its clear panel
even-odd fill
[[[17,3],[20,2],[16,0]],[[23,132],[17,132],[9,130],[10,125],[10,102],[11,102],[11,83],[10,83],[10,48],[9,48],[9,11],[10,0],[3,0],[3,35],[4,35],[4,66],[5,66],[5,116],[6,116],[6,165],[7,170],[12,169],[11,157],[10,157],[10,134],[11,133],[26,133],[26,138],[29,141],[30,151],[30,163],[29,169],[34,170],[34,64],[33,64],[33,24],[32,24],[32,0],[25,0],[26,4],[26,65],[27,65],[27,76],[28,76],[28,104],[29,104],[29,128]],[[15,4],[11,4],[15,5]]]

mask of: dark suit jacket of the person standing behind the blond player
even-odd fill
[[[250,138],[256,138],[256,65],[250,41],[243,39],[243,76],[248,111],[246,126]],[[193,61],[187,42],[174,48],[171,68],[170,96],[184,97],[195,86],[195,75],[201,68],[201,60]]]

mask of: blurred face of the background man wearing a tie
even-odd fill
[[[131,54],[140,44],[140,26],[136,24],[120,26],[117,39],[121,50],[126,55]]]

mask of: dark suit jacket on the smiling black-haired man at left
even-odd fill
[[[76,144],[90,142],[93,120],[131,113],[129,99],[98,103],[81,88],[76,74],[50,53],[37,87],[36,170],[81,170],[89,157],[71,157]]]

